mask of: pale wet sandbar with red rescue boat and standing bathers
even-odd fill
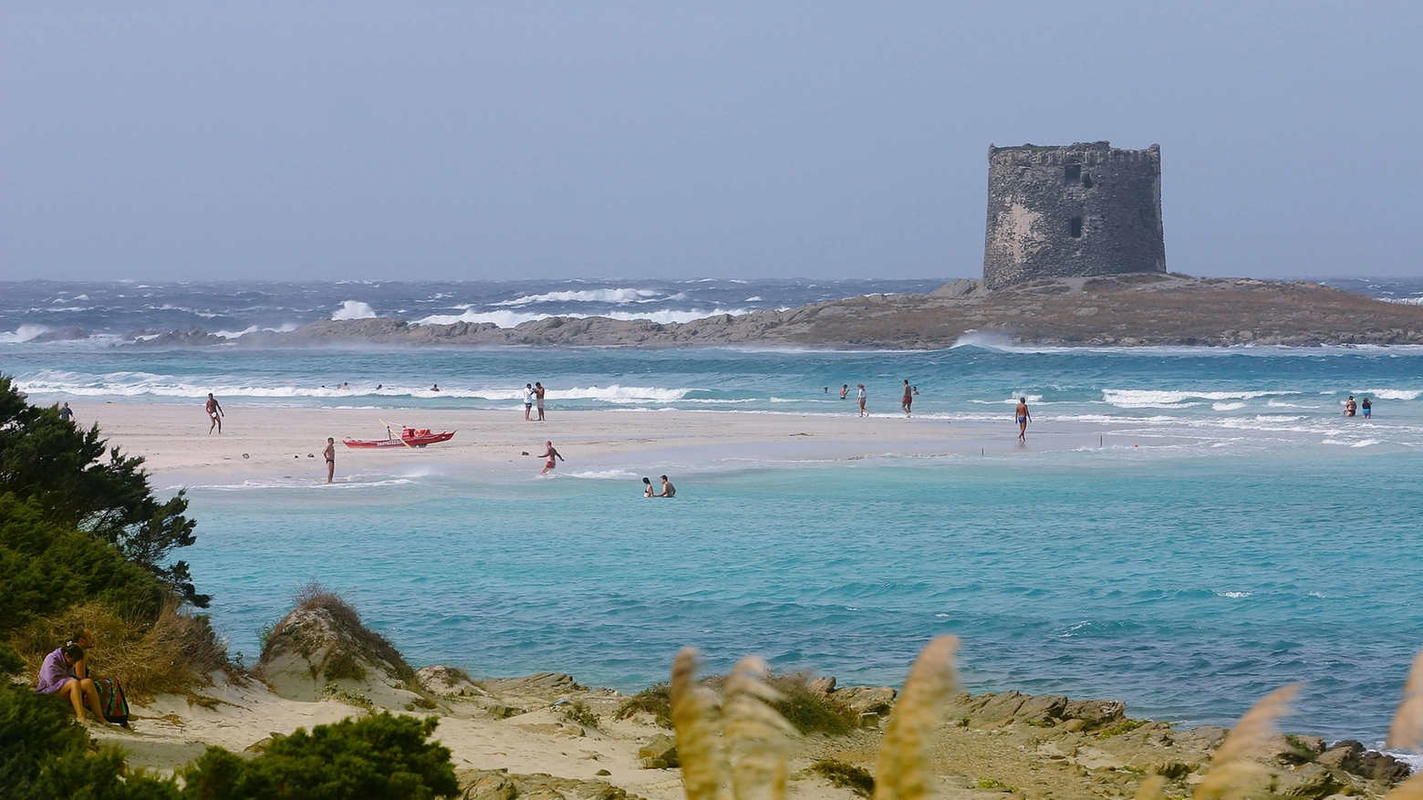
[[[277,409],[225,407],[223,433],[208,433],[202,406],[105,403],[77,409],[77,421],[97,421],[111,446],[147,460],[158,488],[211,478],[310,477],[324,480],[322,448],[336,438],[337,480],[380,475],[421,465],[451,473],[536,473],[544,441],[566,463],[558,471],[618,467],[683,473],[717,465],[840,461],[871,457],[928,457],[1009,453],[1022,447],[1003,409],[1000,423],[877,413],[776,414],[684,410],[549,411],[544,423],[522,410]],[[384,438],[381,420],[433,431],[458,431],[428,447],[350,450],[344,438]],[[396,428],[398,434],[398,427]],[[1109,426],[1029,426],[1026,450],[1096,447]],[[529,453],[531,456],[524,456]]]

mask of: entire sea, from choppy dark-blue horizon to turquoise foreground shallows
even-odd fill
[[[1319,279],[1390,302],[1423,280]],[[1303,682],[1285,727],[1376,746],[1423,649],[1423,349],[1025,347],[970,333],[928,352],[784,347],[259,349],[243,332],[334,317],[517,325],[552,315],[676,322],[939,280],[6,282],[0,373],[36,403],[228,409],[564,410],[635,427],[669,410],[851,414],[840,387],[924,436],[999,424],[966,454],[781,457],[683,448],[656,464],[205,477],[181,557],[235,653],[310,581],[343,592],[413,663],[475,676],[569,672],[638,690],[699,648],[783,672],[898,685],[932,636],[961,682],[1126,700],[1231,725]],[[202,347],[135,346],[202,327]],[[430,391],[438,384],[441,391]],[[1372,419],[1346,419],[1368,396]],[[1017,397],[1033,410],[1013,446]],[[83,416],[83,413],[81,413]],[[522,421],[519,421],[522,424]],[[1070,447],[1043,433],[1070,431]],[[669,473],[675,501],[640,498]]]

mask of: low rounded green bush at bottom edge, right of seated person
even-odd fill
[[[246,760],[209,747],[186,770],[191,800],[427,800],[458,793],[450,750],[427,742],[437,717],[380,713],[276,739]]]

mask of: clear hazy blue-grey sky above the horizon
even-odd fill
[[[1167,268],[1423,275],[1417,3],[0,3],[0,279],[978,278],[988,148]]]

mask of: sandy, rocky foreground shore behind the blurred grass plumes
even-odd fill
[[[852,800],[834,776],[868,776],[898,696],[888,686],[807,679],[810,692],[854,712],[857,727],[808,733],[790,762],[790,796]],[[640,698],[642,695],[639,695]],[[266,636],[250,679],[218,680],[196,698],[158,698],[138,732],[104,732],[132,766],[172,769],[206,743],[259,753],[296,725],[379,713],[438,715],[467,800],[677,800],[677,742],[669,722],[609,689],[564,673],[472,680],[448,666],[414,670],[332,595],[313,595]],[[933,735],[932,770],[948,800],[1091,800],[1136,794],[1161,776],[1188,797],[1227,736],[1131,719],[1118,700],[1019,692],[952,698]],[[1249,797],[1382,797],[1409,766],[1359,742],[1275,736],[1255,754]],[[827,767],[825,764],[830,764]]]

